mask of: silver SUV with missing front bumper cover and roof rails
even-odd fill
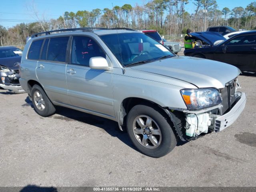
[[[24,48],[20,84],[34,110],[64,106],[118,122],[143,154],[230,126],[246,103],[240,70],[176,56],[129,29],[68,29],[35,34]]]

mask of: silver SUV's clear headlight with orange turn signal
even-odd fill
[[[208,108],[222,102],[218,90],[214,88],[182,89],[180,92],[188,110]]]

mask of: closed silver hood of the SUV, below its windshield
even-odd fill
[[[194,84],[198,88],[224,88],[241,71],[230,64],[196,57],[175,56],[132,69],[176,78]]]

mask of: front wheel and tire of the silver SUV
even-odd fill
[[[134,106],[127,116],[126,128],[136,148],[150,157],[162,157],[177,144],[176,136],[164,112],[152,106]]]

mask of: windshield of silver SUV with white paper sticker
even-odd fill
[[[162,44],[143,33],[108,34],[100,38],[124,66],[175,56]]]

